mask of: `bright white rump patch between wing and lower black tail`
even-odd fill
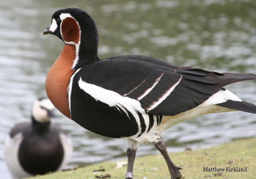
[[[217,93],[215,93],[214,95],[212,95],[211,97],[209,97],[209,99],[204,101],[204,104],[206,104],[206,105],[219,104],[219,103],[224,103],[228,100],[242,101],[239,97],[237,97],[236,95],[234,95],[230,91],[220,90]]]

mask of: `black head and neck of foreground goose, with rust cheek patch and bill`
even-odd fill
[[[91,16],[78,8],[67,8],[54,12],[52,24],[44,35],[58,36],[65,44],[76,47],[76,59],[72,70],[98,61],[98,31]]]

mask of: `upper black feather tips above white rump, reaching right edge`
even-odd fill
[[[224,76],[220,77],[222,81],[219,83],[220,87],[246,81],[246,80],[256,80],[255,74],[233,74],[233,73],[224,73]]]

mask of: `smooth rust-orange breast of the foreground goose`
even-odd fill
[[[50,68],[45,82],[45,90],[53,105],[66,117],[68,109],[68,82],[73,71],[70,69],[76,56],[73,45],[65,45],[60,56]]]

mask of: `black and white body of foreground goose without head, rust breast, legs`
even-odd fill
[[[151,141],[144,142],[144,135],[181,122],[179,116],[184,121],[186,113],[185,120],[234,109],[256,113],[253,105],[248,109],[250,104],[223,88],[255,75],[219,74],[162,61],[152,64],[150,60],[158,61],[146,56],[115,56],[78,69],[70,82],[72,90],[68,91],[71,118],[100,135],[133,136],[146,143]],[[191,114],[192,109],[196,116]]]

